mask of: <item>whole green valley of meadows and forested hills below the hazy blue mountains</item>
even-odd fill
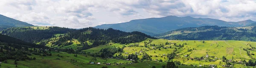
[[[1,68],[253,68],[256,65],[255,26],[185,27],[154,37],[139,31],[93,27],[8,27],[0,33]]]

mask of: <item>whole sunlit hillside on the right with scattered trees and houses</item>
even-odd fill
[[[236,68],[243,68],[244,64],[248,66],[249,60],[254,62],[255,44],[256,42],[250,41],[176,41],[148,38],[139,43],[107,44],[83,50],[83,52],[91,56],[98,54],[97,57],[102,57],[101,54],[105,53],[105,49],[112,52],[112,49],[120,47],[122,51],[112,54],[114,58],[159,63],[172,60],[176,65],[195,67],[202,65],[222,68],[232,65]],[[206,57],[207,54],[208,57]]]

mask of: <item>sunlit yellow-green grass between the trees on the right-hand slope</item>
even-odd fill
[[[157,46],[149,46],[149,48],[144,47],[144,42],[149,42],[149,40],[152,40],[149,44],[155,44],[160,45],[164,44],[164,47],[170,47],[172,48],[160,48],[159,49],[153,49]],[[165,43],[176,43],[176,45],[184,44],[183,47],[177,47],[174,46],[174,44],[168,44],[165,45]],[[139,46],[132,46],[134,44],[139,44]],[[251,46],[249,46],[249,44]],[[91,49],[84,50],[84,52],[99,52],[102,48],[108,48],[108,47],[114,47],[114,46],[123,46],[123,44],[115,44],[115,45],[102,45],[97,46]],[[123,56],[128,56],[129,54],[135,54],[135,52],[140,53],[140,50],[143,52],[146,52],[148,55],[152,56],[153,61],[159,61],[160,59],[163,60],[163,62],[167,61],[167,54],[172,53],[175,48],[177,48],[177,51],[175,52],[178,57],[175,57],[173,61],[180,61],[183,64],[186,65],[217,65],[218,67],[222,67],[221,65],[225,65],[222,60],[219,58],[222,58],[223,56],[227,58],[227,60],[231,60],[233,57],[234,61],[242,61],[242,60],[253,60],[250,58],[250,56],[247,55],[247,52],[243,49],[256,47],[256,42],[250,42],[250,41],[176,41],[176,40],[164,40],[164,39],[148,39],[146,41],[142,41],[139,43],[133,43],[133,44],[127,44],[126,47],[123,49],[124,53],[122,53]],[[191,52],[188,50],[192,49]],[[251,50],[251,53],[255,54],[256,50]],[[166,54],[166,55],[164,55]],[[206,57],[206,55],[209,55],[209,59],[215,60],[215,62],[210,62],[209,60],[203,60],[203,61],[196,61],[196,60],[190,60],[190,58],[195,57]],[[115,55],[115,54],[114,54]],[[185,55],[189,55],[185,57]],[[138,55],[139,58],[142,58],[143,55]],[[252,57],[256,57],[256,55],[252,55]],[[217,59],[216,59],[217,58]],[[189,59],[189,60],[188,60]],[[221,63],[220,63],[221,62]],[[244,65],[241,64],[235,64],[235,67],[244,67]]]

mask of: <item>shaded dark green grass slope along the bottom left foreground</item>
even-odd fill
[[[46,56],[42,58],[42,56],[34,55],[29,57],[36,57],[36,60],[25,60],[25,61],[17,61],[17,68],[101,68],[102,66],[107,66],[108,68],[151,68],[151,66],[156,66],[160,68],[162,65],[166,65],[166,63],[158,63],[158,62],[142,62],[142,63],[134,63],[134,64],[123,64],[123,65],[103,65],[103,64],[88,64],[91,61],[91,56],[86,56],[79,54],[78,57],[74,57],[74,54],[67,54],[65,52],[51,52],[52,56]],[[57,55],[63,56],[58,57]],[[60,60],[56,60],[59,58]],[[102,59],[96,57],[95,63],[131,63],[131,61],[126,60],[117,60],[117,59]],[[74,61],[72,61],[74,60]],[[2,63],[0,68],[16,68],[14,64],[14,60],[8,60],[8,63]],[[190,66],[179,66],[179,68],[189,67]]]

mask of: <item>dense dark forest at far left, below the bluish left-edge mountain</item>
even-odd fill
[[[2,34],[26,41],[29,43],[36,43],[43,39],[52,38],[55,34],[68,33],[76,29],[62,28],[62,27],[45,27],[46,30],[34,29],[32,27],[11,27],[2,30]]]

